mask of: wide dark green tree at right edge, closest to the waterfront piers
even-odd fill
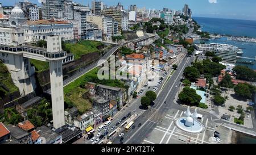
[[[242,79],[245,81],[256,81],[256,72],[247,66],[237,65],[233,68],[233,72],[236,74],[237,79]]]

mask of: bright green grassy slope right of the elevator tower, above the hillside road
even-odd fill
[[[100,52],[97,49],[98,45],[102,45],[102,43],[100,41],[83,40],[77,44],[65,43],[63,50],[72,53],[75,56],[75,60],[77,60],[87,53]]]

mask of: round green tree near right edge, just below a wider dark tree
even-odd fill
[[[238,97],[250,99],[255,92],[255,87],[247,83],[238,83],[238,85],[234,87],[234,91]]]

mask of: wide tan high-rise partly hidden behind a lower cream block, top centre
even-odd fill
[[[101,15],[110,16],[116,22],[118,22],[118,34],[121,34],[122,31],[122,11],[118,9],[103,9]]]

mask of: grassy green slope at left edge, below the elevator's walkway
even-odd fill
[[[11,79],[11,74],[7,70],[7,67],[5,66],[5,64],[3,64],[0,61],[0,93],[1,93],[0,99],[3,96],[14,93],[15,91],[19,91],[19,89],[14,85],[13,79]]]

